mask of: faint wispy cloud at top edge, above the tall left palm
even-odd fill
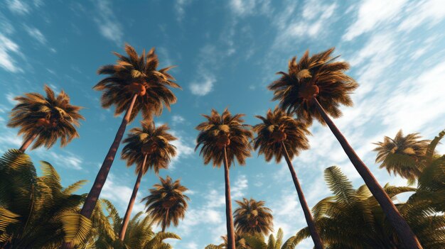
[[[124,32],[122,31],[122,24],[117,21],[112,10],[112,3],[107,0],[97,1],[97,13],[99,14],[95,18],[95,22],[99,27],[100,33],[104,38],[112,40],[117,45],[121,45]]]

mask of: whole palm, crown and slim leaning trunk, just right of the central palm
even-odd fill
[[[306,223],[311,229],[313,243],[316,248],[323,248],[323,243],[318,235],[311,211],[304,198],[303,190],[291,161],[294,156],[299,155],[301,150],[309,149],[309,140],[306,135],[311,135],[311,133],[308,131],[306,123],[295,120],[278,108],[275,108],[274,111],[269,109],[266,117],[256,117],[261,119],[262,123],[253,128],[254,132],[257,133],[257,137],[254,139],[254,149],[259,149],[259,154],[264,154],[267,162],[275,157],[275,160],[279,163],[284,157],[294,181],[304,218],[306,218]]]

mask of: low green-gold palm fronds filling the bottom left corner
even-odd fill
[[[90,229],[109,228],[101,209],[91,220],[78,220],[85,195],[73,193],[85,181],[62,187],[48,162],[41,162],[41,172],[20,150],[0,158],[0,248],[58,248],[64,240],[81,245]]]

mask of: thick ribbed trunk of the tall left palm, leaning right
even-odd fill
[[[87,199],[85,199],[85,203],[83,204],[82,210],[80,211],[80,214],[82,214],[82,216],[91,218],[92,211],[93,209],[95,209],[97,200],[99,199],[100,196],[100,192],[102,191],[102,187],[104,187],[105,181],[107,180],[109,169],[113,164],[114,157],[116,156],[117,153],[117,149],[119,148],[122,137],[124,136],[125,129],[127,128],[127,123],[129,122],[130,116],[132,115],[132,110],[134,102],[136,102],[136,97],[137,94],[134,94],[132,102],[130,103],[127,112],[125,113],[124,118],[122,118],[122,123],[119,126],[119,129],[117,130],[116,137],[114,138],[114,141],[108,150],[104,162],[102,162],[102,167],[100,167],[100,170],[97,173],[95,182],[92,184],[90,193],[88,193]],[[64,242],[61,248],[73,249],[74,245],[72,243]]]

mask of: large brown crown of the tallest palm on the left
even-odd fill
[[[170,105],[176,103],[176,96],[169,87],[181,89],[173,82],[173,76],[168,74],[168,70],[175,66],[156,70],[159,59],[154,48],[147,54],[144,50],[139,56],[131,45],[125,44],[125,52],[127,56],[113,52],[118,57],[117,63],[97,70],[98,74],[109,74],[93,87],[103,91],[102,107],[115,105],[114,114],[117,116],[127,111],[132,97],[138,94],[130,121],[136,118],[139,111],[144,119],[151,119],[153,114],[161,115],[163,106],[170,110]]]

